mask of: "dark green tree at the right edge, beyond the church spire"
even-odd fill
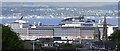
[[[114,33],[109,36],[110,41],[116,41],[117,42],[117,51],[120,51],[120,30],[114,31]]]

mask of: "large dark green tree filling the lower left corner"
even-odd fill
[[[2,51],[25,51],[22,40],[8,26],[2,26]]]

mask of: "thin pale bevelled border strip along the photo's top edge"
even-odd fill
[[[119,2],[120,0],[0,0],[1,2]]]

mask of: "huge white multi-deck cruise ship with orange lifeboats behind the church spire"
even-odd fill
[[[40,22],[30,24],[27,21],[23,21],[22,18],[5,24],[11,27],[22,40],[35,40],[39,38],[93,40],[96,27],[100,31],[100,39],[102,39],[103,35],[103,23],[86,19],[84,16],[65,18],[59,25],[42,25]],[[116,29],[118,29],[117,25],[107,24],[107,36],[110,36]]]

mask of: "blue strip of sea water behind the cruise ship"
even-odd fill
[[[23,18],[24,21],[28,21],[29,23],[34,23],[34,22],[41,22],[43,25],[58,25],[64,18]],[[86,19],[91,19],[95,20],[98,22],[99,20],[103,20],[104,18],[86,18]],[[6,24],[8,22],[14,22],[18,20],[16,19],[0,19],[2,24]],[[118,18],[107,18],[107,23],[112,24],[112,25],[118,25]]]

